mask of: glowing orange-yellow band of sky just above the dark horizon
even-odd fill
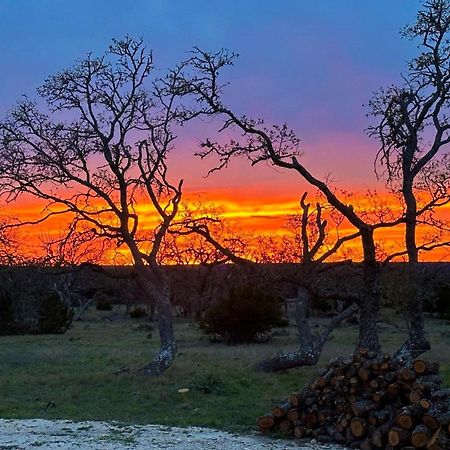
[[[288,197],[288,196],[287,196]],[[286,228],[286,222],[289,216],[298,214],[299,197],[286,199],[283,201],[277,200],[276,194],[268,198],[261,198],[258,196],[249,196],[245,193],[239,196],[239,192],[218,190],[217,192],[210,191],[209,197],[204,198],[196,193],[188,192],[184,195],[184,202],[191,207],[196,207],[199,199],[202,202],[202,208],[215,209],[220,212],[220,217],[226,224],[229,225],[233,233],[237,235],[247,236],[270,236],[272,238],[281,239],[283,236],[291,236],[292,230]],[[367,197],[354,196],[355,203],[359,203],[359,208],[367,206]],[[399,208],[398,204],[393,203],[393,197],[389,194],[380,196],[383,202],[391,204],[393,209]],[[309,201],[314,204],[314,198]],[[42,216],[44,203],[34,199],[25,198],[11,209],[15,216],[21,220],[36,220]],[[139,213],[142,230],[152,230],[156,225],[154,212],[151,206],[147,203],[141,202],[136,205],[136,211]],[[441,217],[450,218],[450,206],[446,206],[440,211]],[[3,209],[2,216],[8,216],[8,211]],[[28,225],[22,228],[18,235],[27,239],[28,254],[35,252],[42,255],[42,248],[40,241],[45,238],[60,237],[67,228],[69,218],[63,216],[56,216],[39,225]],[[340,236],[345,236],[355,232],[355,228],[344,223],[339,228]],[[424,237],[430,229],[427,227],[418,227],[418,241]],[[333,226],[329,227],[330,238],[335,236],[335,229]],[[399,251],[404,248],[404,225],[398,225],[392,228],[382,228],[375,233],[376,242],[386,253]],[[361,258],[361,244],[359,239],[355,239],[347,243],[344,250],[350,252],[350,256],[354,260]],[[122,255],[127,254],[127,250],[121,249]],[[111,253],[108,253],[111,255]],[[342,255],[342,253],[340,253]],[[339,257],[339,254],[336,256]],[[436,249],[432,252],[421,252],[421,261],[450,261],[450,251],[448,248]],[[401,260],[401,259],[400,259]],[[112,261],[112,259],[111,259]],[[331,258],[330,261],[333,261]]]

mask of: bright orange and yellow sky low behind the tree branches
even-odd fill
[[[255,236],[268,235],[280,236],[288,231],[285,228],[286,219],[290,214],[297,213],[298,198],[293,192],[292,186],[279,185],[278,189],[267,192],[262,195],[262,189],[250,186],[247,189],[222,188],[209,190],[207,196],[204,192],[201,194],[188,191],[184,195],[184,200],[191,205],[202,199],[205,206],[213,205],[220,209],[222,217],[239,233],[251,233]],[[281,192],[280,192],[281,191]],[[312,196],[311,196],[312,198]],[[370,208],[367,197],[361,194],[351,194],[350,198],[355,205],[361,208]],[[393,210],[399,206],[392,196],[384,194],[380,196],[382,202],[388,203]],[[313,203],[313,200],[310,200]],[[33,199],[22,199],[20,202],[10,205],[3,210],[4,215],[15,216],[22,220],[33,220],[42,213],[43,204]],[[356,209],[358,206],[356,206]],[[137,212],[141,217],[141,224],[144,229],[152,229],[155,224],[151,208],[145,203],[137,205]],[[450,207],[442,208],[441,216],[450,218]],[[40,240],[45,236],[57,237],[64,232],[67,226],[67,220],[58,216],[52,218],[45,224],[27,226],[20,231],[22,242],[26,242],[28,252],[40,252]],[[343,223],[340,227],[340,235],[349,234],[354,229]],[[429,232],[426,228],[419,229],[419,240],[425,233]],[[330,233],[333,233],[331,231]],[[404,239],[404,227],[397,226],[391,229],[381,229],[376,232],[376,239],[379,245],[386,253],[398,251],[402,248]],[[31,249],[31,250],[30,250]],[[346,245],[346,250],[351,251],[351,255],[358,259],[361,254],[360,244],[355,240]],[[126,252],[125,252],[126,253]],[[432,252],[424,252],[421,255],[423,261],[450,261],[450,252],[447,249],[437,249]]]

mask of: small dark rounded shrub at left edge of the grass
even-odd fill
[[[72,324],[72,319],[72,309],[59,298],[56,292],[47,292],[40,297],[37,333],[65,333]]]

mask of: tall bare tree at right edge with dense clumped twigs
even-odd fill
[[[450,202],[448,157],[442,154],[450,143],[450,2],[425,1],[403,36],[418,39],[420,53],[409,62],[402,85],[382,90],[372,99],[372,114],[379,122],[368,131],[381,144],[378,168],[403,197],[405,246],[414,286],[420,249],[448,245],[448,228],[432,212]],[[441,232],[420,244],[417,227],[424,223]],[[442,231],[447,231],[447,239]],[[406,298],[409,336],[397,352],[404,361],[430,348],[422,299],[416,292],[410,290]]]

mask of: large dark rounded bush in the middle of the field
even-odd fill
[[[200,330],[229,344],[254,342],[272,327],[285,325],[279,299],[255,286],[230,289],[198,321]]]

